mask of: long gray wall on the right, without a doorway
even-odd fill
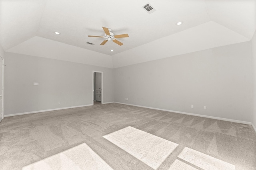
[[[115,68],[114,101],[251,122],[251,62],[248,41]]]

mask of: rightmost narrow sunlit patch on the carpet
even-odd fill
[[[235,170],[233,164],[219,160],[202,152],[185,147],[178,158],[207,170]]]

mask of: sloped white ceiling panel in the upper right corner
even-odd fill
[[[252,39],[256,29],[256,0],[205,0],[205,3],[212,21]]]

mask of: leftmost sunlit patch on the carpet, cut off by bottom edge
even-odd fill
[[[86,143],[65,150],[28,166],[22,170],[113,170]]]

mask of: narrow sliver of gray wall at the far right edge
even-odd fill
[[[252,123],[256,127],[256,31],[252,37]]]

